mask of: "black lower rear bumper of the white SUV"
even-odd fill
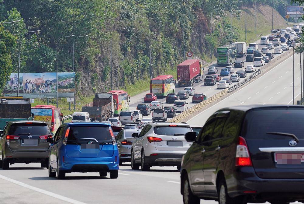
[[[181,166],[181,158],[184,154],[157,154],[146,156],[145,161],[150,166]]]

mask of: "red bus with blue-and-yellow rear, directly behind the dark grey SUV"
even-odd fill
[[[50,131],[55,135],[61,125],[59,108],[52,105],[36,105],[31,108],[31,112],[34,114],[34,121],[46,122]]]

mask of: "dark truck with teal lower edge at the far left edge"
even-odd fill
[[[4,130],[6,122],[32,120],[29,98],[1,97],[0,130]]]

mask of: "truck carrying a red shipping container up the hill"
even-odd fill
[[[177,80],[179,86],[192,86],[196,78],[202,80],[201,66],[199,59],[187,59],[177,65]]]

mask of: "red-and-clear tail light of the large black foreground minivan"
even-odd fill
[[[248,146],[243,137],[239,137],[235,157],[235,166],[252,166]]]

